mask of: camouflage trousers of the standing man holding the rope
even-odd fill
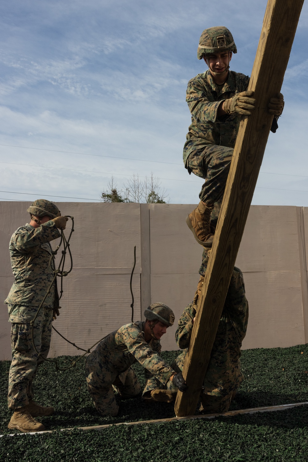
[[[33,380],[38,366],[43,362],[35,352],[31,339],[30,320],[34,318],[37,306],[8,305],[12,322],[12,363],[9,372],[7,402],[10,409],[24,407],[34,398]],[[52,308],[41,308],[34,323],[34,344],[38,352],[47,358],[51,339]],[[27,322],[25,322],[27,321]]]

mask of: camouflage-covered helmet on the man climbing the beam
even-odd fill
[[[232,51],[237,53],[236,44],[229,29],[224,26],[209,27],[200,37],[198,46],[198,59],[203,56],[219,53],[220,51]]]

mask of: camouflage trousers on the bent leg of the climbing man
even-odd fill
[[[189,169],[194,175],[205,179],[199,198],[208,206],[222,201],[232,155],[232,148],[211,145],[193,152],[188,158]]]

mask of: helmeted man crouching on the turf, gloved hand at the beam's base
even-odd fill
[[[140,393],[138,378],[131,367],[136,361],[145,368],[147,383],[154,379],[162,385],[172,383],[175,390],[187,389],[181,371],[176,373],[159,356],[160,339],[175,320],[173,311],[163,303],[153,303],[144,315],[145,321],[126,324],[109,334],[85,361],[88,391],[103,416],[116,416],[119,412],[114,389],[122,398],[133,398]]]

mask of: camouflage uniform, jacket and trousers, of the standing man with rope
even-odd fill
[[[48,221],[38,228],[28,223],[21,226],[10,241],[15,280],[4,303],[8,304],[9,322],[12,322],[8,392],[8,407],[11,409],[26,406],[34,397],[32,383],[42,359],[37,358],[33,349],[30,321],[54,278],[54,272],[49,267],[52,256],[49,242],[58,237],[60,232],[54,222]],[[57,306],[59,297],[54,283],[34,323],[36,349],[45,358],[50,345],[53,309]]]

